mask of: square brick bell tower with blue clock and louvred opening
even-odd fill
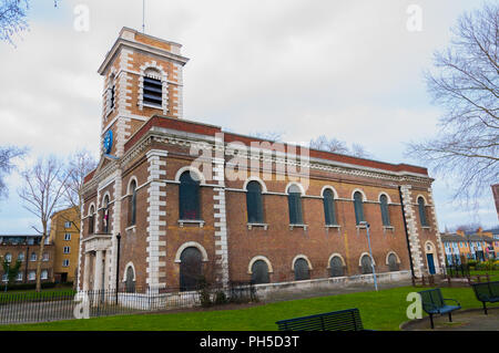
[[[154,114],[182,118],[182,45],[123,28],[99,74],[101,153],[122,157],[125,142]]]

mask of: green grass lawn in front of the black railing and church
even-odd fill
[[[359,292],[313,299],[283,301],[237,310],[195,311],[165,314],[108,316],[51,323],[1,325],[0,330],[48,331],[274,331],[278,320],[328,311],[358,308],[366,329],[399,330],[407,321],[409,292],[422,289],[401,287],[379,292]],[[444,288],[444,298],[452,298],[464,309],[481,308],[471,288]],[[221,307],[222,308],[222,307]]]

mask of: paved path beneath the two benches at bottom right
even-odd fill
[[[452,322],[448,315],[435,315],[435,329],[430,329],[429,318],[414,320],[403,325],[405,331],[499,331],[499,308],[455,311]]]

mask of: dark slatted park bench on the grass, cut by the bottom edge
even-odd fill
[[[276,324],[279,331],[364,331],[358,309],[281,320]]]

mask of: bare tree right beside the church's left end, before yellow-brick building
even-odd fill
[[[69,156],[68,166],[64,173],[61,175],[62,179],[65,179],[64,197],[63,200],[68,207],[77,210],[78,219],[81,220],[82,215],[82,196],[81,187],[83,186],[84,177],[95,169],[96,160],[92,154],[86,149],[78,150]],[[80,231],[80,224],[75,222],[72,218],[64,218],[67,221],[71,221],[73,226]]]

